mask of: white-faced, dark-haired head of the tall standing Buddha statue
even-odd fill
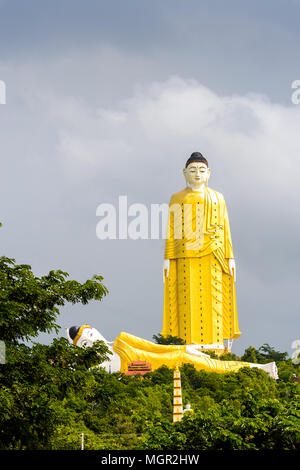
[[[207,184],[210,176],[210,168],[206,158],[200,152],[194,152],[187,160],[183,170],[187,186],[200,189]]]

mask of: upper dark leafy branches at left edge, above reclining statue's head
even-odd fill
[[[56,318],[66,302],[87,304],[107,294],[103,278],[95,275],[83,284],[67,280],[61,270],[37,277],[29,265],[0,258],[0,339],[8,343],[28,340],[40,332],[58,332]]]

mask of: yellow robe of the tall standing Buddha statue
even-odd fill
[[[187,187],[169,204],[165,259],[163,336],[222,352],[240,336],[229,219],[222,194]]]

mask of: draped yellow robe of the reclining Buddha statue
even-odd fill
[[[186,346],[154,344],[129,333],[121,332],[115,339],[113,350],[120,356],[121,372],[128,370],[133,361],[150,362],[152,370],[166,365],[170,369],[182,364],[193,364],[197,370],[208,372],[236,372],[241,367],[250,367],[248,362],[220,361],[207,356],[195,356],[186,352]]]

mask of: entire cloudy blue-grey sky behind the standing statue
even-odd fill
[[[164,241],[101,241],[96,208],[119,195],[167,203],[200,151],[231,223],[233,351],[293,352],[299,15],[298,0],[0,0],[1,254],[37,275],[100,274],[110,292],[65,307],[62,328],[88,323],[109,340],[161,331]]]

